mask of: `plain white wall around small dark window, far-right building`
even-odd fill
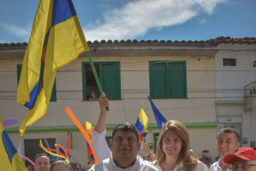
[[[215,56],[216,101],[226,102],[226,105],[216,106],[218,122],[241,123],[241,137],[248,139],[248,143],[241,146],[251,146],[251,141],[256,141],[256,114],[245,111],[244,103],[244,87],[256,81],[255,47],[255,44],[222,43]],[[236,66],[223,66],[223,58],[235,58]]]

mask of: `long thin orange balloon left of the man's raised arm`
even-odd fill
[[[86,138],[86,141],[88,142],[91,150],[92,150],[92,155],[94,156],[94,161],[95,163],[98,163],[99,160],[97,158],[97,156],[94,153],[94,149],[92,148],[92,144],[90,143],[90,137],[88,135],[88,133],[86,132],[86,130],[84,129],[84,127],[81,125],[81,123],[79,122],[79,120],[77,120],[77,118],[75,117],[75,115],[73,114],[73,112],[71,111],[71,109],[69,109],[68,107],[65,107],[66,113],[68,114],[69,118],[71,118],[71,120],[73,120],[73,122],[75,123],[75,125],[77,125],[77,128],[81,131],[81,133],[84,135],[84,137]]]

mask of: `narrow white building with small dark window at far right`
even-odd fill
[[[241,146],[255,148],[256,39],[219,37],[214,42],[220,45],[215,55],[218,129],[237,129]]]

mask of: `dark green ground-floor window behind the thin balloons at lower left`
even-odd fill
[[[39,141],[42,139],[29,139],[29,140],[24,140],[24,150],[25,150],[25,156],[31,161],[34,161],[34,157],[36,157],[37,154],[39,153],[45,153],[40,146],[38,146]],[[50,148],[55,148],[55,138],[47,138],[47,142],[50,146]],[[44,140],[42,140],[42,145],[44,147],[47,147],[47,144]],[[47,154],[49,156],[49,154]],[[49,156],[50,157],[50,156]],[[29,164],[29,161],[25,161],[25,165]]]

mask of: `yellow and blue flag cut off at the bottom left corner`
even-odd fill
[[[27,170],[26,166],[24,166],[21,157],[18,155],[18,152],[12,144],[12,140],[10,139],[8,133],[6,133],[3,122],[0,116],[0,170],[8,170],[8,171],[16,171],[16,170]]]

